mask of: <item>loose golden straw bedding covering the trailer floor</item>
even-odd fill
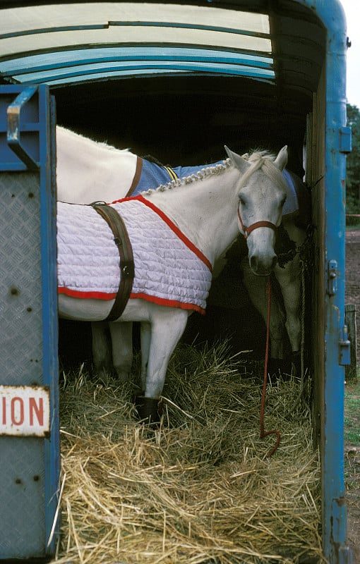
[[[181,345],[154,431],[136,422],[130,384],[67,374],[56,562],[321,562],[308,410],[293,408],[294,379],[270,382],[265,427],[282,439],[267,458],[275,439],[259,439],[260,380],[246,353],[228,358],[226,343]]]

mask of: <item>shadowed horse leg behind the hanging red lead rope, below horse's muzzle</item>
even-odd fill
[[[261,317],[268,322],[268,293],[267,293],[267,276],[256,276],[253,274],[248,257],[242,260],[242,272],[244,287],[248,292],[248,296],[252,304],[256,307]],[[271,356],[273,359],[282,359],[284,357],[284,312],[280,307],[275,293],[272,293],[270,307],[270,344]]]

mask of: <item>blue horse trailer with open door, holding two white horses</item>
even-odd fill
[[[57,120],[189,165],[215,161],[224,142],[288,145],[312,201],[306,325],[323,558],[350,564],[340,0],[5,0],[0,22],[0,560],[52,558],[59,535]]]

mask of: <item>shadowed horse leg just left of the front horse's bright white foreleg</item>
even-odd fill
[[[133,365],[133,324],[131,321],[109,323],[112,337],[112,361],[119,380],[128,381]]]

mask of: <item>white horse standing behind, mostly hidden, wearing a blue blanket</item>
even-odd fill
[[[147,161],[139,159],[128,150],[119,150],[104,143],[97,143],[59,126],[56,128],[56,146],[58,200],[78,204],[95,200],[112,202],[128,195],[136,188],[155,188],[158,185],[157,179],[152,178],[152,170],[156,168],[156,165],[148,164]],[[246,158],[251,162],[256,159],[256,155]],[[151,174],[140,180],[139,168],[143,163],[152,167]],[[178,176],[186,176],[200,169],[200,167],[169,169],[157,166],[157,169],[160,170],[160,168],[164,175],[162,180],[164,182],[174,177],[174,171]],[[288,193],[289,183],[297,183],[298,186],[301,186],[299,178],[294,175],[289,176],[289,173],[287,173],[287,182]],[[248,195],[248,200],[253,196],[257,197],[255,192],[254,190],[251,195]],[[257,205],[256,200],[253,200],[253,205]],[[246,214],[245,210],[243,210],[244,213]],[[250,214],[248,216],[250,217]],[[296,245],[301,245],[304,240],[304,229],[296,227],[293,219],[292,215],[286,215],[283,217],[283,223],[290,239],[294,240]],[[251,246],[251,238],[248,244]],[[266,320],[265,278],[256,276],[261,273],[256,272],[256,268],[253,269],[254,260],[251,265],[245,257],[242,266],[244,286],[248,290],[251,301]],[[275,276],[280,280],[284,298],[284,309],[279,302],[273,300],[272,303],[271,351],[272,357],[278,359],[284,356],[285,324],[293,352],[299,350],[301,329],[299,272],[299,255],[295,255],[283,268],[275,266]],[[109,324],[112,342],[122,343],[121,347],[119,345],[112,347],[112,361],[109,357],[106,329],[107,323],[105,322],[92,323],[92,351],[95,368],[101,371],[114,367],[119,377],[126,379],[133,360],[132,324]]]

